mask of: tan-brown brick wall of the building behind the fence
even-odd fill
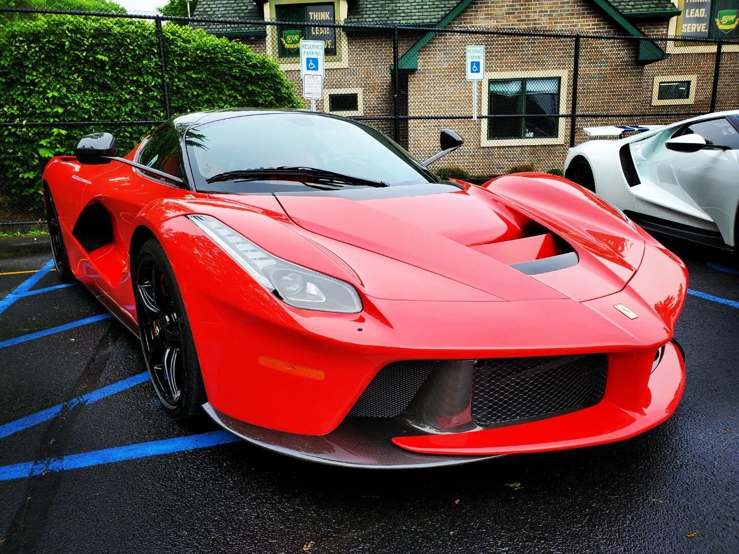
[[[454,20],[454,27],[529,28],[579,33],[621,34],[590,2],[554,0],[511,3],[505,0],[477,0]],[[648,35],[666,35],[667,21],[643,20],[635,24]],[[402,55],[422,36],[401,32]],[[256,52],[265,52],[265,38],[245,39]],[[327,89],[361,88],[365,116],[389,116],[393,113],[392,35],[373,30],[347,31],[349,67],[327,69]],[[566,71],[563,113],[571,111],[573,38],[531,38],[475,34],[439,33],[420,51],[418,70],[408,81],[409,113],[412,115],[466,115],[471,113],[471,85],[464,78],[464,47],[485,44],[487,72]],[[664,41],[657,41],[663,49]],[[604,41],[582,38],[578,86],[579,113],[678,113],[706,112],[712,92],[715,54],[674,54],[654,64],[637,65],[637,41]],[[299,72],[286,72],[300,90]],[[695,101],[676,106],[652,106],[653,83],[658,75],[697,75]],[[724,52],[719,81],[718,109],[739,106],[739,52]],[[487,81],[481,83],[480,113],[487,98]],[[327,110],[319,101],[317,108]],[[624,123],[670,123],[678,117],[614,117],[613,119],[579,117],[576,142],[588,140],[582,133],[586,126]],[[368,122],[392,134],[392,121]],[[408,124],[409,151],[419,159],[438,148],[438,132],[454,129],[466,140],[465,146],[449,154],[436,165],[463,165],[472,174],[500,174],[516,163],[534,163],[547,171],[561,168],[570,136],[570,120],[564,118],[559,144],[535,145],[522,140],[517,146],[481,146],[485,120],[411,120]]]

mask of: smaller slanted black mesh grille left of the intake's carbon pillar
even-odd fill
[[[398,417],[437,364],[436,360],[389,363],[364,389],[349,415]]]

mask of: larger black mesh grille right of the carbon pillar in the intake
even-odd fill
[[[605,392],[606,355],[479,360],[472,420],[493,425],[593,406]]]

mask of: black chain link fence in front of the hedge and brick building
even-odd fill
[[[659,125],[739,107],[737,41],[347,25],[288,12],[262,21],[0,8],[5,68],[39,40],[46,46],[43,63],[31,57],[0,75],[0,232],[40,222],[41,171],[84,134],[110,131],[128,151],[171,115],[250,107],[263,83],[251,69],[242,73],[247,52],[264,55],[248,64],[276,62],[300,97],[301,38],[326,46],[318,111],[361,120],[418,159],[437,151],[440,129],[453,129],[466,144],[435,170],[472,182],[562,171],[568,148],[590,140],[587,127]],[[227,47],[234,43],[244,46]],[[487,52],[476,114],[468,45]],[[213,83],[227,93],[214,95]]]

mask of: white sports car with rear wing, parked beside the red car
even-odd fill
[[[647,230],[739,247],[739,110],[668,126],[583,130],[619,140],[570,148],[565,177]]]

